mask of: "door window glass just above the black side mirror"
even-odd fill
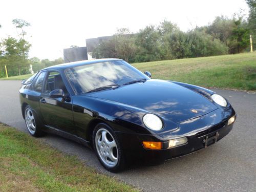
[[[67,95],[68,91],[66,86],[61,78],[59,72],[50,72],[47,77],[45,94],[49,94],[51,91],[55,89],[62,89],[63,92]]]

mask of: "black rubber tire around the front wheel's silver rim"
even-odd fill
[[[116,149],[115,150],[116,150],[116,153],[117,153],[117,162],[114,166],[113,165],[110,166],[110,165],[106,164],[104,162],[105,160],[101,159],[103,154],[101,154],[101,157],[100,157],[100,154],[99,154],[100,150],[97,149],[96,134],[98,134],[98,132],[100,132],[101,130],[107,130],[107,132],[109,132],[111,134],[109,136],[112,136],[114,141],[115,141],[115,144],[116,144]],[[109,134],[109,133],[107,133],[107,134]],[[110,172],[116,173],[116,172],[120,172],[125,167],[124,154],[123,154],[122,147],[120,145],[120,141],[119,141],[118,137],[116,136],[115,132],[112,130],[112,128],[110,126],[106,125],[105,123],[97,124],[94,131],[93,131],[92,140],[93,140],[93,147],[94,147],[94,151],[96,153],[96,156],[97,156],[98,160],[100,161],[100,163],[102,164],[102,166],[106,170],[109,170]],[[102,140],[102,138],[101,138],[101,140]],[[113,150],[114,150],[114,148],[113,148]]]

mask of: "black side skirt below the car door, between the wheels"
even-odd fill
[[[85,146],[87,146],[89,148],[92,148],[91,145],[90,145],[90,143],[91,143],[90,141],[87,141],[85,139],[77,137],[76,135],[70,134],[68,132],[56,129],[55,127],[48,126],[48,125],[45,125],[45,126],[46,126],[46,129],[44,129],[44,131],[47,132],[47,133],[59,135],[59,136],[64,137],[66,139],[70,139],[72,141],[81,143],[82,145],[85,145]]]

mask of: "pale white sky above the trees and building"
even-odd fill
[[[24,19],[31,24],[29,56],[53,60],[63,57],[64,48],[84,47],[87,38],[113,35],[118,28],[136,33],[166,19],[187,31],[240,10],[248,13],[245,0],[0,0],[0,39],[17,36],[12,19]]]

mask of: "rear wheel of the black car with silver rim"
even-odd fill
[[[30,120],[28,120],[28,116],[30,116]],[[25,117],[25,123],[27,126],[27,129],[29,131],[29,134],[32,135],[33,137],[42,137],[45,135],[45,132],[42,131],[42,123],[38,119],[36,113],[34,110],[31,108],[31,106],[27,105],[24,109],[24,117]]]

